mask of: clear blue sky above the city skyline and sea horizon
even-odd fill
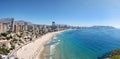
[[[120,0],[0,0],[0,18],[120,28]]]

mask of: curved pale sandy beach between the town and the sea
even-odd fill
[[[19,59],[44,59],[43,53],[45,44],[47,44],[55,35],[63,31],[47,33],[34,42],[23,46],[17,51],[17,57]]]

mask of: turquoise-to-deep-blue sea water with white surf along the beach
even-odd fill
[[[53,38],[52,43],[50,59],[98,59],[120,48],[120,30],[68,30]]]

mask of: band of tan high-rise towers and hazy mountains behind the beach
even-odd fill
[[[32,24],[31,22],[26,21],[15,21],[14,18],[2,18],[0,19],[0,33],[8,32],[8,33],[16,33],[21,31],[35,31],[35,32],[44,32],[48,31],[58,31],[60,29],[65,28],[65,25],[56,24],[55,21],[52,22],[51,25],[39,25]]]

